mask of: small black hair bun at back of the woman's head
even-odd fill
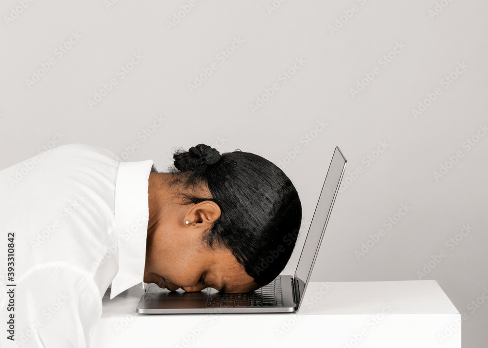
[[[217,163],[222,155],[217,149],[205,144],[192,146],[187,152],[173,155],[175,167],[180,172],[193,171]]]

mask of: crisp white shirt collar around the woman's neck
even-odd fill
[[[119,270],[112,280],[110,299],[137,284],[143,285],[149,221],[148,185],[152,160],[121,162],[115,184],[115,221]]]

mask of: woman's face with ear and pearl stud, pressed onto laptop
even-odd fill
[[[210,287],[239,293],[259,288],[229,249],[210,249],[202,241],[205,230],[220,216],[216,203],[204,201],[188,208],[167,202],[160,211],[164,212],[148,231],[145,283],[172,291]]]

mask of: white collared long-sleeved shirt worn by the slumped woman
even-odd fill
[[[1,347],[90,347],[109,285],[143,287],[152,167],[71,144],[0,171]]]

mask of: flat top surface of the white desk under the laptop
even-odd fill
[[[110,300],[107,290],[102,317],[154,315],[134,313],[143,292],[133,287]],[[435,280],[311,282],[303,301],[300,314],[374,314],[388,303],[397,314],[459,313]]]

